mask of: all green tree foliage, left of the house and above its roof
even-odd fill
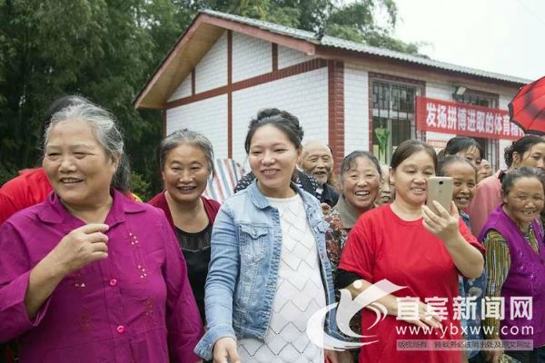
[[[393,0],[0,0],[0,183],[39,161],[49,103],[79,93],[118,118],[135,188],[159,190],[161,114],[136,111],[133,101],[203,8],[418,51],[391,37]]]

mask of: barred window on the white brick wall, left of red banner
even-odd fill
[[[390,81],[372,81],[372,153],[390,163],[398,145],[416,138],[415,106],[421,87]]]

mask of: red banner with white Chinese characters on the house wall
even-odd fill
[[[509,112],[495,108],[416,97],[417,128],[485,139],[517,140],[524,132]]]

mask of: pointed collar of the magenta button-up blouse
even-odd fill
[[[120,191],[110,191],[112,195],[112,208],[106,216],[105,224],[110,228],[117,223],[125,221],[125,213],[139,213],[145,211],[144,205],[136,201],[130,201]],[[42,204],[42,209],[37,213],[41,221],[52,224],[66,223],[70,221],[79,221],[64,207],[59,196],[52,191]]]

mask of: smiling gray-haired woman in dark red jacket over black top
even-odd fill
[[[210,263],[210,239],[220,203],[204,198],[213,175],[212,143],[199,132],[179,130],[159,147],[165,190],[150,204],[164,211],[187,263],[189,282],[204,320],[204,284]]]

